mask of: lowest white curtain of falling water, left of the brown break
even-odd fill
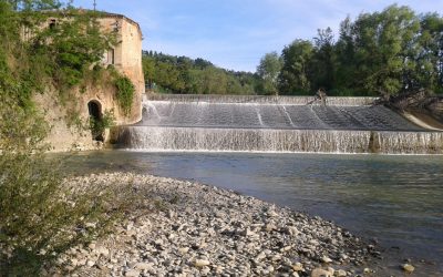
[[[128,148],[148,151],[368,152],[371,132],[269,129],[120,129]]]

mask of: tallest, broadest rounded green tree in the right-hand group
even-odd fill
[[[406,7],[362,13],[353,23],[347,19],[338,43],[339,85],[385,96],[410,88],[419,31],[418,17]]]

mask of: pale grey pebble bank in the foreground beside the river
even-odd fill
[[[213,186],[130,173],[69,184],[143,197],[112,235],[59,258],[72,276],[356,276],[380,257],[333,223]]]

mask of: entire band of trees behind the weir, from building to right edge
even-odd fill
[[[266,53],[256,73],[210,62],[144,53],[145,78],[172,93],[390,96],[424,89],[443,93],[443,18],[403,6],[347,17],[338,34],[328,27],[312,40],[295,39]]]

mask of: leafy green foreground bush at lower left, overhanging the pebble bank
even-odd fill
[[[0,96],[0,276],[38,276],[60,253],[110,230],[133,201],[63,184],[60,161],[43,153],[42,116],[16,103]]]

